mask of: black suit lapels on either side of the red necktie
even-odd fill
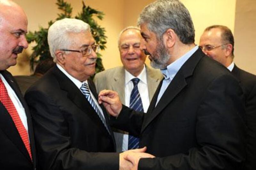
[[[22,97],[20,89],[18,88],[18,85],[15,83],[12,75],[6,70],[1,71],[1,74],[4,76],[4,78],[8,82],[8,84],[12,87],[13,91],[16,93],[18,99],[20,100],[22,106],[25,109],[25,113],[27,116],[27,123],[28,123],[28,135],[29,135],[29,140],[30,140],[30,147],[32,150],[31,152],[32,152],[33,159],[35,159],[35,148],[34,148],[35,145],[34,145],[34,134],[33,134],[33,128],[32,128],[32,120],[31,120],[31,116],[28,111],[27,104],[25,103],[25,100]],[[1,110],[0,128],[6,134],[6,136],[9,137],[9,139],[12,141],[12,143],[15,144],[17,146],[17,148],[23,153],[23,155],[29,161],[31,161],[28,151],[20,137],[20,134],[12,120],[11,115],[9,114],[9,112],[6,110],[6,108],[4,107],[4,105],[2,103],[0,103],[0,110]]]

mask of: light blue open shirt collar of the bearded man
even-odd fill
[[[167,80],[169,78],[174,78],[176,73],[180,70],[181,66],[189,59],[191,55],[196,52],[197,49],[198,46],[192,48],[186,54],[182,55],[179,59],[168,65],[166,69],[161,70],[162,74],[164,75],[164,79]]]

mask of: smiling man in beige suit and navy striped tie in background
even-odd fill
[[[159,70],[145,64],[146,55],[140,50],[140,28],[128,26],[124,28],[118,38],[118,48],[123,66],[102,71],[95,75],[94,83],[97,92],[110,89],[118,92],[121,102],[127,106],[143,109],[146,113],[156,88],[163,78]],[[138,89],[137,102],[136,94]],[[142,104],[141,107],[138,105]],[[122,152],[139,146],[139,138],[128,132],[113,129],[116,139],[116,151]]]

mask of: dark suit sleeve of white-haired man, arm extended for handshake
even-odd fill
[[[34,129],[40,169],[118,169],[119,154],[86,152],[71,143],[65,113],[43,92],[25,95]]]

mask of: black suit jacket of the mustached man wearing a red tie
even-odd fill
[[[8,71],[0,71],[8,84],[19,98],[25,109],[28,122],[28,135],[32,153],[33,163],[29,157],[28,151],[20,137],[18,130],[11,115],[8,113],[4,105],[0,102],[0,169],[24,169],[32,170],[36,167],[36,150],[34,141],[34,132],[32,127],[32,119],[28,106],[22,97],[20,89]]]

